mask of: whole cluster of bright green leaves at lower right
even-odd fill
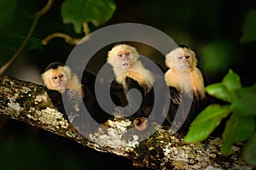
[[[246,148],[255,148],[256,141],[252,136],[255,133],[256,85],[241,87],[240,77],[230,70],[222,82],[211,84],[207,86],[206,90],[208,94],[229,102],[230,105],[213,104],[209,105],[204,111],[201,111],[191,124],[185,141],[195,143],[207,139],[214,128],[218,127],[221,120],[230,115],[222,135],[222,153],[225,156],[230,155],[232,153],[232,144],[237,142],[246,143],[250,138],[254,143],[250,141]],[[255,154],[253,155],[249,152],[251,150],[244,150],[245,158],[248,162],[256,165]]]

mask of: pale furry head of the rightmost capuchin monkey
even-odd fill
[[[195,52],[186,46],[179,46],[166,54],[166,66],[180,71],[192,71],[197,65]]]

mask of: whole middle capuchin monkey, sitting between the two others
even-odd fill
[[[113,97],[113,103],[119,106],[115,108],[116,111],[118,111],[121,116],[128,115],[127,117],[132,121],[140,119],[134,121],[134,125],[138,130],[144,130],[146,127],[140,127],[140,125],[145,121],[144,118],[149,116],[153,106],[157,105],[154,102],[159,100],[154,99],[154,90],[161,89],[153,89],[153,85],[158,82],[160,77],[156,75],[154,71],[151,71],[150,68],[148,69],[146,62],[139,56],[136,48],[125,43],[113,46],[113,48],[108,51],[107,60],[108,64],[113,67],[115,76],[115,81],[112,83],[115,84],[115,86],[111,89],[111,95],[112,97],[115,95],[115,98]],[[164,77],[162,77],[162,80],[163,85],[166,86]],[[121,88],[119,95],[115,93],[119,91],[118,86]],[[140,91],[142,95],[142,105],[135,106],[138,105],[137,95],[130,95],[128,93],[132,88],[137,88]],[[159,96],[163,97],[162,95]],[[128,103],[129,106],[127,107]]]

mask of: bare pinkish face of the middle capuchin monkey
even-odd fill
[[[115,64],[121,69],[129,69],[131,67],[133,56],[130,51],[119,51],[115,56]]]

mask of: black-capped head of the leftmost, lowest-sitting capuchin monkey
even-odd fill
[[[47,88],[57,90],[61,94],[65,91],[67,81],[71,77],[69,67],[61,63],[51,63],[42,74],[42,79]]]

